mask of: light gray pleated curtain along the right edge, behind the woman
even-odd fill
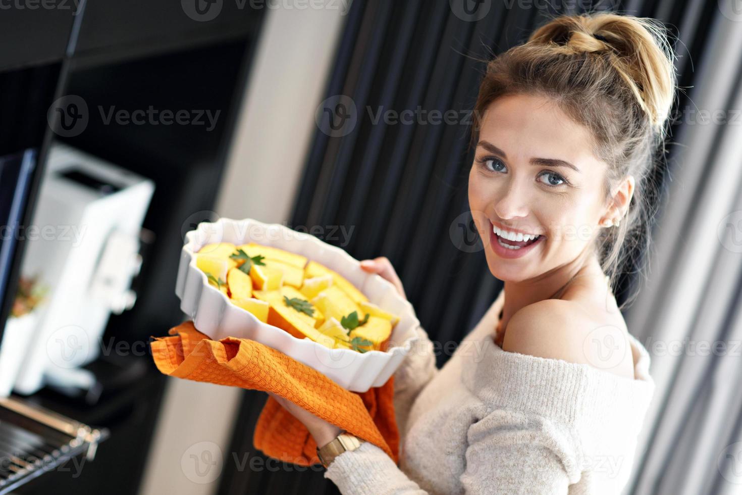
[[[657,383],[629,494],[742,493],[742,10],[718,5],[626,315]]]

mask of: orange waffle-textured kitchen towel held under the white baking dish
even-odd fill
[[[248,338],[211,340],[192,321],[151,337],[157,369],[195,381],[272,392],[378,445],[398,462],[399,432],[394,414],[394,377],[364,393],[345,390],[322,373]],[[306,427],[269,396],[253,435],[255,448],[285,462],[308,466],[319,462],[317,444]]]

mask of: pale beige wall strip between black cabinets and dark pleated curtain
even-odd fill
[[[286,0],[275,3],[283,7],[266,13],[216,212],[283,223],[289,220],[346,11],[338,8],[340,1],[303,10],[286,7]],[[228,449],[239,392],[168,378],[140,494],[216,492],[220,464],[196,473],[191,456],[234,462]]]

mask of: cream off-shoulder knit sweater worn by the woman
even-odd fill
[[[630,335],[635,379],[493,341],[504,292],[441,370],[422,329],[395,372],[399,467],[364,442],[324,476],[343,494],[620,494],[654,381]]]

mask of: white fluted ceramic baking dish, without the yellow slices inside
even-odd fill
[[[350,281],[369,300],[382,309],[399,315],[386,352],[371,350],[358,353],[349,349],[329,349],[309,338],[296,338],[278,327],[263,323],[251,312],[232,304],[222,292],[211,286],[206,274],[196,267],[195,252],[211,243],[255,242],[306,256],[322,263]],[[324,373],[341,387],[365,392],[381,387],[399,367],[417,340],[419,327],[412,304],[395,287],[378,275],[364,272],[358,260],[343,249],[297,232],[277,223],[262,223],[252,218],[199,223],[185,235],[175,286],[183,309],[200,332],[212,340],[224,337],[249,338],[266,344]]]

